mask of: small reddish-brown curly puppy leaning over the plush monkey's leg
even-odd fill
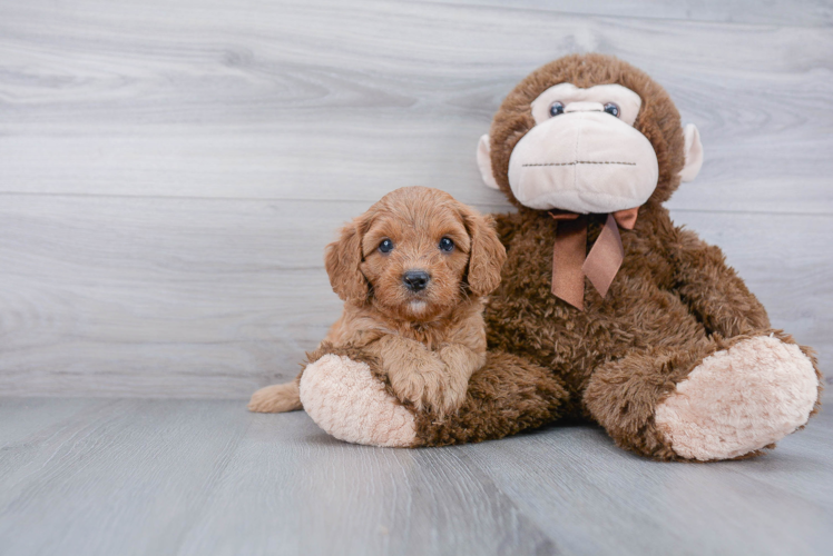
[[[484,296],[504,260],[491,217],[438,189],[396,189],[326,247],[344,311],[324,344],[375,356],[403,403],[452,413],[486,361]],[[300,379],[257,390],[249,410],[301,409]]]

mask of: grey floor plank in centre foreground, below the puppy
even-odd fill
[[[303,413],[270,417],[253,418],[183,554],[556,554],[464,454],[344,445]]]

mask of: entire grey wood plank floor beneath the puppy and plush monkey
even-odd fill
[[[598,428],[420,450],[232,400],[0,399],[0,553],[830,554],[833,418],[752,460]]]

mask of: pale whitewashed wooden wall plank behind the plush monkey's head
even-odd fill
[[[823,28],[405,2],[4,11],[0,191],[373,201],[422,183],[496,202],[472,152],[500,100],[588,50],[648,71],[697,123],[697,185],[782,203],[788,187],[817,210],[833,170]]]

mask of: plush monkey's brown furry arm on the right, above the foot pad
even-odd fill
[[[678,241],[670,252],[675,289],[706,330],[723,338],[767,330],[766,310],[726,265],[723,251],[692,231],[678,230],[677,234]]]

